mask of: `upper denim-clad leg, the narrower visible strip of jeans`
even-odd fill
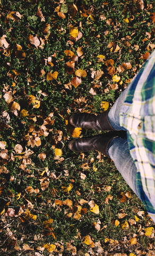
[[[111,126],[115,130],[124,130],[124,127],[120,126],[119,124],[119,113],[123,106],[123,103],[126,99],[126,95],[128,93],[128,90],[130,89],[131,83],[126,87],[126,89],[120,94],[116,102],[114,103],[113,107],[110,109],[108,113],[108,119],[111,124]]]

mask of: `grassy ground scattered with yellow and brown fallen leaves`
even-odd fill
[[[154,223],[111,159],[72,153],[153,51],[154,1],[0,1],[0,252],[154,255]]]

